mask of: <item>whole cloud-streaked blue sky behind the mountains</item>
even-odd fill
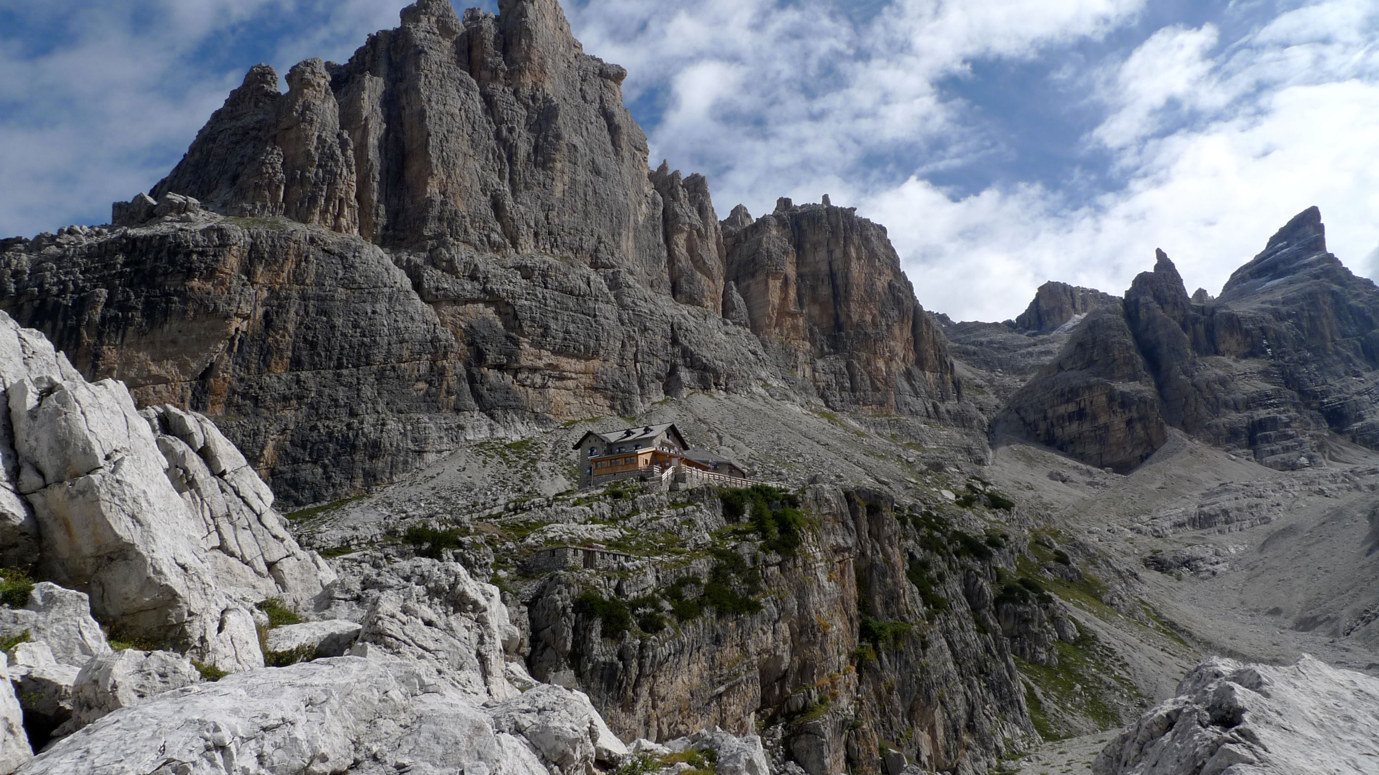
[[[244,72],[343,61],[403,0],[0,0],[0,234],[99,223]],[[487,10],[495,10],[488,3]],[[1379,269],[1379,0],[564,0],[721,215],[884,223],[920,301],[1001,320],[1120,292],[1156,247],[1216,292],[1318,204]]]

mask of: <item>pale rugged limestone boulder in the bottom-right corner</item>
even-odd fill
[[[1096,775],[1379,772],[1379,678],[1303,655],[1296,665],[1211,658],[1121,732]]]

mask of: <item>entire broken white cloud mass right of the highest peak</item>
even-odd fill
[[[590,0],[574,12],[590,51],[629,63],[632,94],[662,101],[656,156],[707,172],[721,210],[745,201],[760,214],[776,196],[823,192],[856,204],[888,226],[929,309],[1001,320],[1049,279],[1120,292],[1156,247],[1215,292],[1311,204],[1338,255],[1379,269],[1373,3],[1168,25],[1081,72],[1051,69],[1085,84],[1103,116],[1070,138],[1110,165],[1077,197],[1033,181],[969,196],[929,182],[998,143],[945,79],[1131,26],[1138,3],[892,0],[860,17],[843,3],[672,6]],[[676,80],[710,61],[735,65],[723,88]]]

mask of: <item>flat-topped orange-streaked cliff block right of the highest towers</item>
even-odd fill
[[[774,353],[830,405],[938,416],[961,396],[947,342],[914,301],[885,229],[855,208],[794,205],[724,222],[728,280]]]

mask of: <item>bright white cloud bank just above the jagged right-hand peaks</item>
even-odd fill
[[[1343,19],[1350,29],[1357,23],[1343,14],[1311,18]],[[1291,39],[1282,29],[1302,33]],[[1196,102],[1212,106],[1209,116],[1176,131],[1117,135],[1125,110],[1143,114],[1145,105],[1162,105],[1171,90],[1118,102],[1120,112],[1094,134],[1118,137],[1132,170],[1123,189],[1085,207],[1060,208],[1056,192],[1037,186],[953,201],[910,179],[872,193],[863,210],[892,225],[920,301],[960,319],[1011,317],[1048,279],[1121,292],[1153,266],[1156,247],[1174,258],[1189,291],[1201,285],[1215,294],[1276,229],[1313,204],[1328,223],[1331,251],[1356,270],[1372,272],[1379,269],[1371,254],[1379,243],[1379,77],[1368,44],[1346,52],[1336,47],[1353,36],[1338,30],[1318,41],[1317,32],[1316,25],[1270,25],[1205,68],[1178,69],[1191,76],[1169,77],[1171,85],[1196,83],[1218,94]],[[1191,34],[1165,33],[1179,41]],[[1187,51],[1183,59],[1194,59],[1205,40],[1179,48]],[[1164,43],[1156,36],[1145,46]],[[1128,70],[1139,66],[1143,51],[1127,58]],[[1329,62],[1332,69],[1298,77],[1280,66],[1298,61]],[[965,299],[954,292],[968,287],[982,292]]]

